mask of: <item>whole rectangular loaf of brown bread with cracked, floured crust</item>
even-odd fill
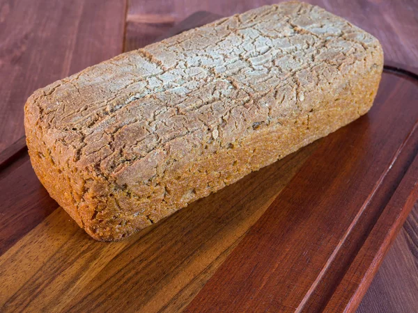
[[[322,8],[263,6],[36,90],[29,155],[80,227],[118,240],[359,118],[382,65]]]

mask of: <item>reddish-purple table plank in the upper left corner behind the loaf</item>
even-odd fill
[[[125,0],[0,0],[0,152],[34,90],[120,54]]]

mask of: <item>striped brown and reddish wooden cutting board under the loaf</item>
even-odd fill
[[[353,312],[417,202],[417,125],[417,75],[387,66],[364,117],[117,243],[49,198],[22,138],[0,154],[0,312]]]

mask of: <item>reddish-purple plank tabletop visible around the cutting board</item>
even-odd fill
[[[0,0],[0,151],[24,134],[23,104],[36,88],[153,42],[197,10],[231,15],[274,2]],[[418,1],[309,2],[376,35],[386,59],[418,67]],[[417,307],[416,205],[358,311],[417,312]]]

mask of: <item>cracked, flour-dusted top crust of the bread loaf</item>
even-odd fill
[[[127,168],[140,168],[146,181],[170,162],[309,112],[318,90],[376,66],[381,53],[372,35],[317,6],[263,6],[37,90],[26,123],[72,163],[121,184]]]

